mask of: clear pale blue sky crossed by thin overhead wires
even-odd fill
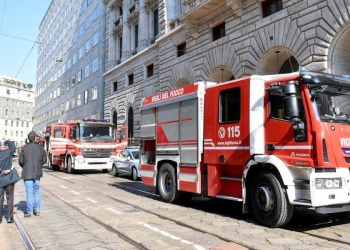
[[[0,0],[0,75],[36,85],[35,41],[50,3],[51,0]]]

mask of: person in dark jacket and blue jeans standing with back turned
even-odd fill
[[[43,177],[42,166],[46,163],[46,152],[42,146],[35,143],[35,132],[28,134],[29,144],[22,147],[18,163],[23,168],[22,179],[26,189],[27,213],[24,217],[33,214],[40,215],[40,178]]]

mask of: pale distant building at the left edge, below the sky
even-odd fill
[[[34,98],[32,84],[0,75],[0,136],[21,145],[33,129]]]

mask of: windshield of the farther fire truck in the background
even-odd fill
[[[79,124],[77,140],[82,142],[115,142],[115,126],[111,124]]]

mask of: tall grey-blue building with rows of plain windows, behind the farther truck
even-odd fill
[[[105,20],[101,0],[51,1],[37,41],[34,130],[104,118]]]

